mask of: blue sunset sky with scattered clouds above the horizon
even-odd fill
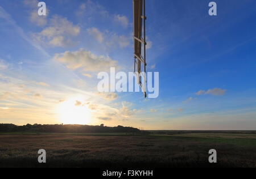
[[[0,123],[256,130],[256,2],[146,0],[147,71],[159,96],[99,92],[134,69],[131,0],[0,2]]]

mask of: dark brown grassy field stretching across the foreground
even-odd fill
[[[38,150],[47,163],[38,163]],[[217,164],[208,151],[217,150]],[[255,133],[0,134],[0,167],[256,167]]]

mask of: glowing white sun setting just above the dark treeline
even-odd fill
[[[57,105],[57,117],[64,124],[89,125],[92,115],[88,105],[83,105],[76,97]]]

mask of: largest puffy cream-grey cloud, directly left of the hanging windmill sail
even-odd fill
[[[106,71],[110,67],[116,67],[116,61],[110,57],[97,56],[89,51],[80,49],[76,52],[64,52],[61,54],[55,54],[54,59],[64,63],[68,69],[82,71]]]

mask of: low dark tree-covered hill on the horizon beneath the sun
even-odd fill
[[[33,132],[33,133],[137,133],[140,130],[133,127],[107,127],[89,125],[24,125],[0,124],[0,133],[10,132]]]

